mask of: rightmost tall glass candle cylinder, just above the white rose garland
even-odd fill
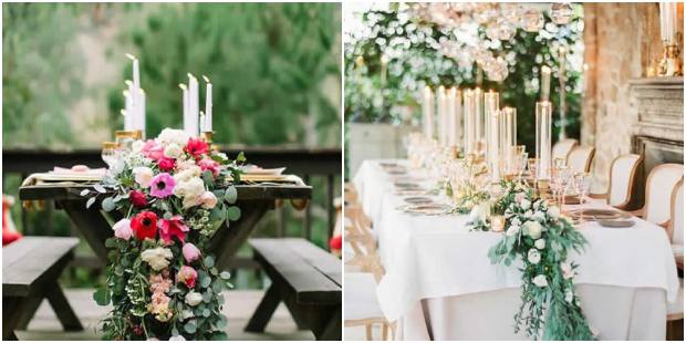
[[[550,180],[552,155],[552,104],[550,102],[536,103],[536,178]]]

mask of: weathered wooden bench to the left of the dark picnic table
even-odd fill
[[[62,328],[83,330],[58,278],[73,258],[76,238],[24,237],[2,247],[2,340],[17,340],[43,299],[48,299]]]

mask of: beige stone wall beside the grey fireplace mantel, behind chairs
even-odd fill
[[[683,27],[683,4],[679,9]],[[644,77],[662,55],[659,7],[656,2],[584,3],[584,18],[588,69],[581,143],[595,146],[592,172],[599,181],[594,190],[600,190],[612,159],[631,152],[636,117],[630,107],[628,81]]]

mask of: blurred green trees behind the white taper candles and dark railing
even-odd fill
[[[181,125],[178,84],[190,72],[212,81],[216,142],[340,146],[337,3],[12,3],[2,17],[6,146],[111,139],[131,79],[126,52],[141,60],[148,136]],[[121,69],[102,90],[84,86],[98,76],[83,73],[98,51],[83,37],[95,31],[117,32],[97,42],[98,58]],[[108,113],[84,113],[83,102]],[[74,122],[93,115],[102,137],[84,143]]]

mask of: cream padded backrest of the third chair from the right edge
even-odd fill
[[[643,156],[627,154],[617,156],[610,166],[610,189],[607,190],[607,204],[623,208],[631,200],[634,177]]]

